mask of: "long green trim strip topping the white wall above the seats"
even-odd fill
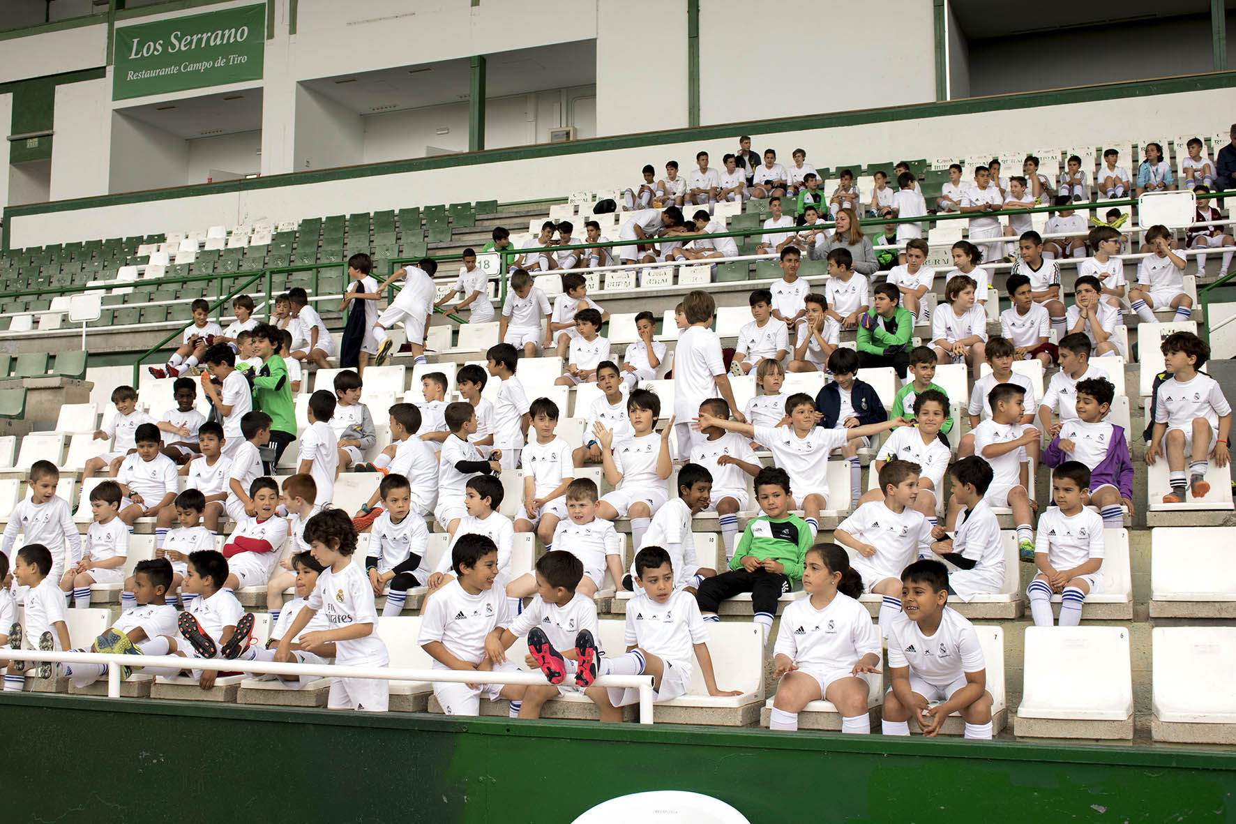
[[[4,210],[4,228],[5,231],[7,231],[14,218],[31,214],[51,214],[58,212],[72,212],[74,209],[126,205],[131,203],[151,203],[205,194],[269,189],[283,186],[303,186],[328,181],[376,177],[381,174],[455,168],[460,166],[473,166],[477,163],[499,163],[538,157],[557,157],[561,155],[577,155],[614,148],[638,148],[661,144],[700,140],[729,140],[733,139],[739,130],[760,134],[775,134],[781,131],[829,129],[873,122],[886,124],[897,120],[975,114],[1001,109],[1028,109],[1044,105],[1059,105],[1062,103],[1093,103],[1095,100],[1107,100],[1111,98],[1145,98],[1158,94],[1225,89],[1234,87],[1236,87],[1236,72],[1208,72],[1204,74],[1162,78],[1157,80],[1127,80],[1120,83],[1105,83],[1100,85],[1077,87],[1072,89],[1020,92],[986,98],[947,100],[941,103],[916,103],[886,109],[858,109],[836,114],[759,120],[744,124],[709,125],[700,129],[639,132],[632,135],[597,137],[593,140],[577,140],[565,144],[541,144],[536,146],[518,146],[512,148],[491,148],[480,152],[441,155],[438,157],[371,163],[367,166],[341,166],[328,170],[314,170],[311,172],[272,174],[243,181],[224,181],[219,183],[201,183],[197,186],[182,186],[166,189],[129,192],[125,194],[105,194],[91,198],[77,198],[73,200],[56,200],[53,203],[6,207]],[[9,249],[7,244],[2,247]]]

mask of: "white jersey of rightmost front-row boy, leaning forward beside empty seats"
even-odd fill
[[[986,669],[986,658],[974,625],[950,606],[941,610],[939,626],[923,635],[917,621],[902,612],[885,630],[889,636],[889,667],[910,667],[911,674],[928,684],[947,687],[964,673]]]

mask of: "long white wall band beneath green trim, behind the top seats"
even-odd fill
[[[1175,130],[1214,134],[1226,129],[1230,89],[1170,95],[1110,99],[1025,110],[948,115],[895,122],[789,131],[753,132],[756,146],[774,146],[789,155],[802,146],[819,166],[886,162],[911,155],[1025,151],[1047,146],[1099,145],[1112,127],[1130,137],[1158,134],[1166,121]],[[1180,113],[1185,113],[1182,115]],[[686,163],[700,148],[713,157],[733,151],[733,137],[684,141],[646,147],[581,152],[544,158],[424,170],[378,177],[357,177],[304,186],[213,194],[147,204],[19,215],[11,220],[14,246],[43,245],[93,238],[200,229],[213,224],[294,220],[308,217],[398,209],[459,199],[523,200],[565,197],[582,188],[628,186],[640,166],[676,157]],[[112,141],[115,152],[115,140]]]

